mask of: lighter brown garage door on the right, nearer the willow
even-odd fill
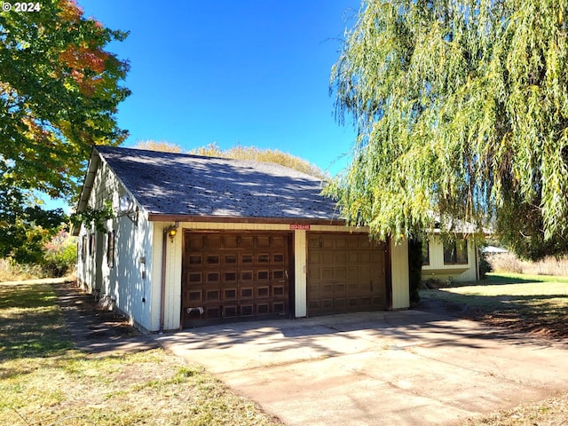
[[[384,242],[367,234],[308,234],[308,315],[385,309]]]

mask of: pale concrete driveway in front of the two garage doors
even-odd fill
[[[427,312],[236,323],[156,339],[288,425],[452,424],[568,389],[568,344]]]

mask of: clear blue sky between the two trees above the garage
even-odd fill
[[[355,131],[328,94],[340,39],[359,0],[78,0],[85,16],[130,31],[112,43],[130,61],[123,146],[157,140],[183,150],[216,142],[279,149],[332,175]],[[342,157],[343,156],[343,157]]]

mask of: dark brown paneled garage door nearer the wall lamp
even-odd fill
[[[184,235],[184,327],[288,313],[287,233]]]

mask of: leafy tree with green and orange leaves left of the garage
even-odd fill
[[[105,50],[126,36],[83,17],[72,0],[0,12],[0,257],[37,240],[35,225],[61,219],[35,193],[71,198],[91,145],[126,138],[115,114],[130,94],[121,85],[128,63]]]

